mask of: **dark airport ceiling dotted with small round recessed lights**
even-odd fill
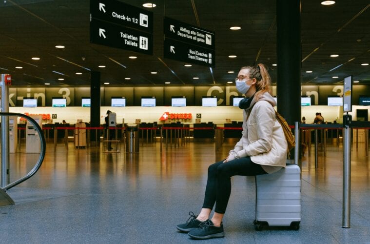
[[[122,2],[144,8],[142,4],[148,1]],[[370,67],[361,65],[370,62],[369,0],[338,0],[331,6],[320,2],[302,0],[302,84],[333,84],[348,75],[357,84],[370,84]],[[11,74],[15,86],[89,86],[88,69],[100,71],[101,83],[109,82],[109,86],[225,85],[234,81],[241,66],[256,61],[265,63],[273,83],[277,82],[278,67],[272,65],[276,63],[276,0],[153,3],[155,8],[145,8],[154,16],[152,56],[90,43],[89,0],[5,0],[0,3],[0,73]],[[214,31],[215,68],[185,67],[185,62],[163,58],[164,17]],[[241,30],[230,30],[231,26]],[[339,57],[331,58],[332,54]]]

